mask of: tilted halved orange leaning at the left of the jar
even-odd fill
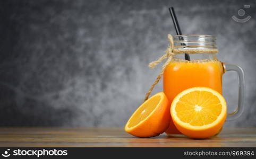
[[[145,101],[132,114],[124,129],[136,137],[153,137],[164,133],[169,122],[170,103],[164,92],[160,92]]]

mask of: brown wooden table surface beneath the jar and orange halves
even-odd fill
[[[256,128],[224,128],[209,139],[137,138],[123,128],[0,128],[0,147],[256,147]]]

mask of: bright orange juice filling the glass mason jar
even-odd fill
[[[218,60],[173,60],[163,77],[164,93],[171,103],[175,96],[191,87],[210,87],[222,94],[223,66]],[[171,119],[166,134],[181,134]]]

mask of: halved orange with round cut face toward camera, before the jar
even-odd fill
[[[226,120],[223,96],[208,87],[193,87],[178,94],[170,107],[174,125],[191,138],[216,135]]]

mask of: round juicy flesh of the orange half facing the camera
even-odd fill
[[[192,91],[180,98],[176,104],[177,117],[192,126],[209,125],[221,113],[218,97],[207,91]]]

